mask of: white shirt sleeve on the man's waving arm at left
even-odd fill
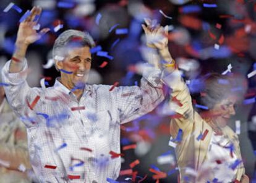
[[[36,96],[40,96],[38,88],[30,88],[26,81],[27,79],[27,60],[20,72],[10,73],[9,67],[11,61],[6,62],[2,68],[2,82],[7,85],[4,86],[6,98],[11,108],[19,117],[33,119],[36,117],[35,112],[29,108],[28,103],[32,103]],[[29,116],[29,117],[28,117]],[[26,127],[32,127],[32,121],[23,121]]]

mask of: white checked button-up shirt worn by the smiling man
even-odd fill
[[[120,124],[150,112],[164,99],[161,70],[153,67],[144,72],[140,87],[109,91],[109,85],[86,85],[78,101],[58,79],[53,87],[30,88],[22,73],[27,61],[19,73],[9,73],[10,63],[2,69],[3,82],[10,84],[7,100],[27,127],[30,161],[40,182],[116,179],[121,159],[111,159],[109,151],[120,153]],[[33,106],[36,96],[40,99]],[[85,109],[72,111],[76,107]],[[70,176],[80,178],[71,181]]]

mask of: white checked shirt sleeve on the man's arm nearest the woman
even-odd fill
[[[117,87],[114,89],[114,101],[121,124],[152,111],[164,100],[161,70],[145,64],[140,87]]]

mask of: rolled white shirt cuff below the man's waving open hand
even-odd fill
[[[6,64],[2,68],[2,80],[10,85],[19,85],[20,83],[24,82],[24,80],[27,79],[27,73],[25,73],[25,70],[28,69],[27,59],[24,59],[23,63],[23,68],[22,70],[20,70],[20,72],[10,73],[9,67],[11,64],[11,60],[6,62]]]

